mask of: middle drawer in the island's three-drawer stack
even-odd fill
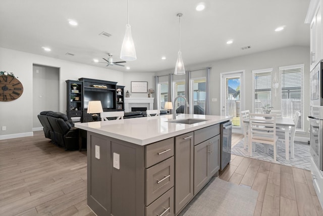
[[[174,157],[146,169],[146,205],[174,186]]]

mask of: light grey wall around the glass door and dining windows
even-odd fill
[[[185,59],[184,64],[185,64]],[[186,65],[186,70],[212,67],[210,72],[210,98],[217,98],[217,102],[210,102],[210,114],[220,115],[220,73],[245,70],[245,107],[252,110],[252,70],[274,68],[274,75],[279,77],[279,67],[295,64],[304,64],[304,130],[305,134],[297,133],[298,137],[309,137],[307,133],[309,123],[306,117],[309,115],[309,47],[287,47],[266,52],[245,55],[198,65]],[[159,71],[156,75],[174,73],[173,70]],[[274,97],[273,106],[279,107],[279,95]]]

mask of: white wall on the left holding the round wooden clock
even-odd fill
[[[57,111],[63,113],[66,113],[67,79],[86,77],[116,81],[124,85],[123,72],[0,48],[0,70],[13,72],[24,87],[22,96],[17,100],[0,102],[0,129],[7,126],[7,131],[0,131],[0,140],[33,134],[33,64],[60,68],[60,110]]]

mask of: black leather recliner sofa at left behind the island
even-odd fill
[[[46,138],[65,150],[79,149],[79,129],[61,112],[42,111],[37,115]]]

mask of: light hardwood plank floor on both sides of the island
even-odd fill
[[[243,138],[233,135],[233,145]],[[0,141],[0,215],[95,215],[86,205],[86,152],[42,132]],[[254,215],[323,215],[310,172],[232,155],[220,178],[259,192]]]

